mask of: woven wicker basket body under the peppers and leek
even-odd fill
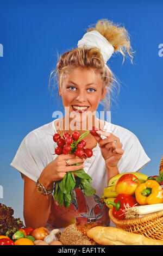
[[[141,218],[118,220],[112,216],[112,209],[110,209],[109,217],[117,228],[141,234],[148,238],[163,240],[163,210]]]

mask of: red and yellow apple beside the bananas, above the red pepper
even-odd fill
[[[117,194],[130,194],[133,196],[141,181],[134,174],[124,174],[118,179],[115,192]]]

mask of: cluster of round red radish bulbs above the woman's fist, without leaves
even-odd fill
[[[96,127],[93,126],[91,131],[86,131],[81,136],[79,135],[78,131],[74,131],[72,135],[70,135],[69,132],[66,132],[62,135],[62,137],[59,135],[59,133],[55,133],[53,135],[53,141],[58,145],[58,147],[55,148],[55,154],[67,155],[69,153],[75,153],[78,157],[91,157],[93,152],[91,149],[85,148],[86,141],[83,138],[90,132],[92,135],[95,135],[95,132],[93,133],[95,128]]]

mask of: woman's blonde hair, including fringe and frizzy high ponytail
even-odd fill
[[[108,21],[107,19],[102,19],[96,23],[95,27],[89,26],[87,32],[92,30],[96,30],[101,33],[114,47],[114,51],[118,51],[122,54],[123,62],[126,57],[126,53],[131,57],[132,62],[133,56],[131,54],[133,52],[130,52],[131,46],[129,34],[124,27],[115,25],[112,21]],[[119,83],[109,66],[104,63],[104,59],[99,48],[74,48],[65,52],[59,57],[57,69],[52,71],[51,76],[54,74],[54,81],[57,81],[61,86],[64,75],[77,67],[92,68],[95,72],[101,74],[103,89],[106,89],[106,95],[103,102],[100,103],[104,105],[104,110],[109,110],[110,93],[112,93],[115,88],[114,84],[116,83],[119,87]],[[49,81],[51,80],[51,76]]]

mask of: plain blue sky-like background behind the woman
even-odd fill
[[[142,173],[158,174],[163,155],[162,15],[163,2],[157,0],[0,1],[0,201],[14,209],[15,217],[23,220],[23,181],[9,164],[27,133],[51,122],[55,110],[64,111],[48,90],[57,52],[77,47],[86,28],[99,19],[124,25],[136,51],[133,65],[129,59],[122,65],[120,54],[109,60],[121,81],[111,121],[135,133],[151,158]]]

